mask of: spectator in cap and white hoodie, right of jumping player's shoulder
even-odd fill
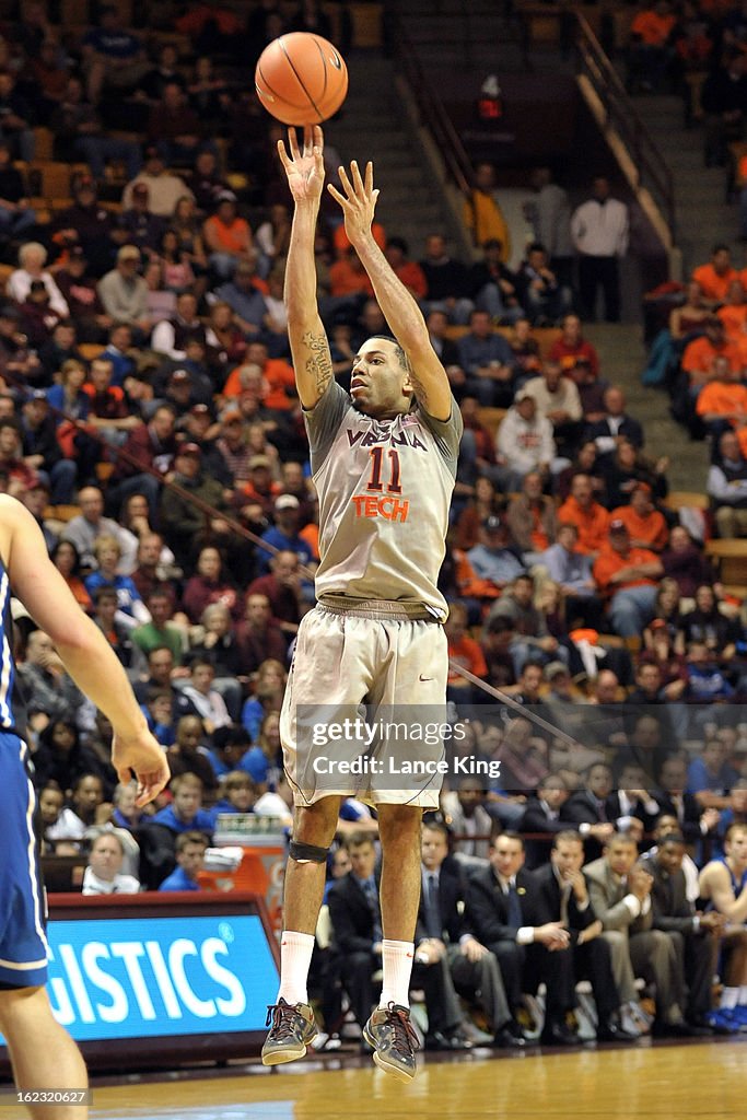
[[[495,447],[501,482],[507,491],[521,489],[530,472],[545,479],[551,469],[560,470],[568,465],[568,460],[555,458],[552,424],[538,414],[536,401],[523,389],[501,421]]]

